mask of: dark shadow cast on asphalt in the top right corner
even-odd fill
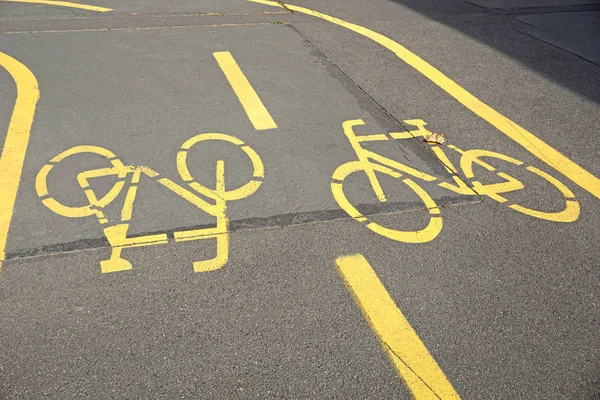
[[[564,0],[562,6],[503,9],[484,8],[461,0],[390,1],[485,43],[561,86],[600,103],[600,0],[589,5],[568,5],[569,0]],[[506,18],[495,20],[492,25],[457,18],[465,13]],[[506,26],[498,22],[502,20]],[[574,62],[574,57],[581,62]]]

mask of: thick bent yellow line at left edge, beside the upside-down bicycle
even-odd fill
[[[40,98],[38,83],[31,71],[14,58],[0,52],[0,66],[13,78],[17,86],[17,99],[13,109],[2,155],[0,155],[0,269],[6,257],[6,240],[12,219],[29,132],[35,114],[35,104]]]

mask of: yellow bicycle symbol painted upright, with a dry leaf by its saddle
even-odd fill
[[[437,180],[437,178],[362,147],[362,143],[366,142],[377,142],[392,139],[412,139],[415,137],[428,138],[432,135],[432,132],[425,128],[427,123],[423,120],[413,119],[406,120],[404,122],[409,125],[416,126],[417,129],[404,132],[391,132],[389,133],[389,136],[385,134],[359,136],[354,133],[354,127],[364,125],[364,121],[361,119],[345,121],[342,125],[344,134],[356,152],[358,160],[342,164],[335,170],[332,176],[331,191],[333,193],[333,197],[340,207],[355,220],[365,223],[367,228],[369,228],[371,231],[399,242],[425,243],[435,239],[442,230],[442,216],[440,213],[440,208],[437,206],[431,196],[421,186],[419,186],[419,184],[417,184],[408,176],[412,176],[426,182],[433,182]],[[450,149],[460,154],[460,169],[462,170],[464,176],[470,181],[472,187],[469,187],[457,176],[458,169],[452,164],[443,148],[437,144],[431,144],[431,146],[434,154],[440,159],[442,164],[444,164],[446,170],[453,174],[454,184],[442,182],[438,184],[440,187],[462,195],[485,195],[499,203],[507,202],[507,199],[502,197],[501,194],[521,190],[525,187],[521,181],[504,172],[497,172],[497,175],[504,179],[503,182],[482,184],[478,180],[475,180],[475,174],[473,172],[474,164],[480,165],[488,171],[496,171],[495,167],[483,161],[482,158],[495,158],[517,166],[523,166],[524,163],[522,161],[501,153],[496,153],[494,151],[479,149],[464,151],[456,146],[449,145],[448,147]],[[549,221],[573,222],[577,220],[580,213],[579,202],[575,199],[575,195],[573,192],[571,192],[571,190],[569,190],[569,188],[567,188],[558,179],[536,167],[526,166],[525,169],[555,186],[564,196],[565,206],[561,211],[557,212],[534,210],[519,204],[510,204],[508,206],[509,208],[532,217]],[[355,172],[362,172],[367,175],[369,183],[380,202],[387,201],[387,198],[375,173],[379,172],[399,179],[417,194],[417,196],[423,201],[425,207],[429,210],[430,219],[427,226],[420,230],[402,231],[387,228],[374,221],[370,221],[350,203],[344,193],[344,180]]]

